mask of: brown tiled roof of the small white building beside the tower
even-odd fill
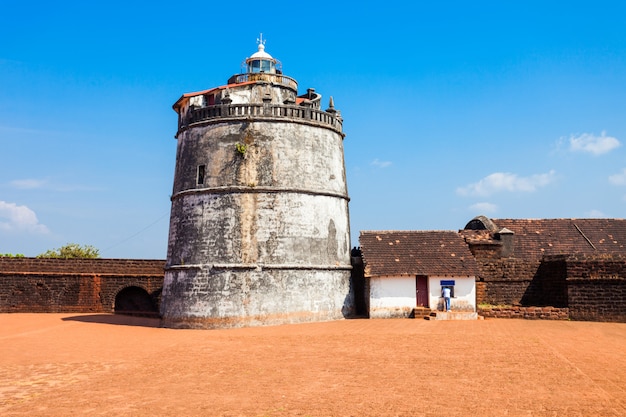
[[[365,276],[468,277],[478,266],[463,238],[452,231],[363,231]]]

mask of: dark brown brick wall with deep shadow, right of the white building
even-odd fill
[[[626,258],[550,255],[540,261],[479,259],[484,317],[626,322]]]

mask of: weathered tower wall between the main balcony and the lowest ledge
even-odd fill
[[[341,141],[329,129],[288,122],[183,132],[170,264],[203,263],[209,255],[211,263],[349,265]],[[204,184],[196,183],[199,165],[206,166]]]

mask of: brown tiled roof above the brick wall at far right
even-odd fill
[[[543,255],[562,254],[626,255],[626,219],[491,220],[498,230],[507,228],[515,233],[515,258],[537,259]]]

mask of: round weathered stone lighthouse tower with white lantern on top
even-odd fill
[[[342,119],[265,51],[184,94],[162,325],[224,328],[353,311]]]

